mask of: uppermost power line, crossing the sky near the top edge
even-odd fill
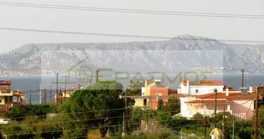
[[[63,10],[91,10],[91,11],[114,12],[114,13],[138,13],[138,14],[154,14],[154,15],[264,19],[264,15],[193,13],[193,12],[174,12],[174,11],[163,11],[163,10],[135,10],[135,9],[124,9],[124,8],[123,9],[122,8],[94,8],[94,7],[86,7],[86,6],[61,6],[61,5],[51,5],[51,4],[39,4],[39,3],[12,3],[12,2],[4,2],[4,1],[0,1],[0,5],[33,7],[33,8],[56,8],[56,9],[63,9]]]

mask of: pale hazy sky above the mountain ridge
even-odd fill
[[[263,0],[10,0],[6,2],[192,13],[264,15]],[[264,19],[110,13],[0,5],[0,27],[8,28],[166,37],[190,34],[214,39],[264,40],[263,24]],[[147,40],[157,39],[0,30],[0,54],[27,43],[128,42]]]

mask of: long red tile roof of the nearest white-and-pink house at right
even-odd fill
[[[209,93],[206,95],[196,95],[197,99],[215,99],[215,93]],[[229,96],[226,93],[217,93],[217,99],[254,99],[256,94],[251,93],[249,95],[242,95],[241,92],[229,92]]]

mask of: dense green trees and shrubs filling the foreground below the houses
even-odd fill
[[[131,82],[126,95],[139,95],[142,83]],[[86,88],[77,90],[58,107],[53,105],[34,105],[25,110],[12,109],[5,116],[12,119],[8,125],[1,126],[1,133],[7,134],[10,139],[20,138],[88,138],[90,131],[98,129],[101,137],[121,138],[123,115],[126,110],[125,100],[120,95],[123,87],[115,81],[101,81]],[[135,103],[133,99],[127,99],[128,106]],[[179,138],[183,133],[195,133],[196,137],[204,136],[205,117],[197,113],[191,120],[180,115],[172,118],[180,112],[179,99],[170,99],[167,104],[158,101],[156,111],[142,111],[140,108],[131,110],[130,126],[125,126],[128,135],[125,138]],[[47,117],[49,113],[56,113],[53,117]],[[222,129],[223,115],[226,115],[226,138],[231,138],[233,116],[230,113],[217,113],[217,127]],[[259,124],[264,126],[264,108],[259,111]],[[214,117],[207,117],[206,138],[211,133]],[[254,117],[253,117],[254,119]],[[141,133],[140,124],[147,121],[148,131]],[[154,127],[151,129],[151,127]],[[155,131],[155,133],[153,133]],[[163,132],[161,132],[163,131]],[[235,138],[252,138],[252,121],[236,120]],[[259,134],[264,138],[264,129],[259,129]],[[136,135],[136,136],[135,136]],[[196,138],[194,137],[194,138]],[[0,138],[1,139],[1,138]]]

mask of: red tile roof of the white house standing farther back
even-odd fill
[[[183,85],[187,85],[187,81],[188,80],[183,80],[181,81],[181,83],[183,83]],[[220,80],[201,80],[199,83],[189,81],[189,85],[221,85],[222,86],[224,84]]]

